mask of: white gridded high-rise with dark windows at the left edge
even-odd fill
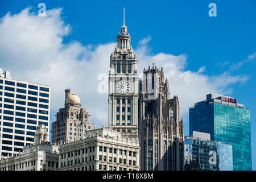
[[[49,131],[50,97],[50,86],[13,80],[0,69],[0,156],[18,154],[34,143],[40,124]]]

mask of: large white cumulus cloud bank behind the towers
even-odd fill
[[[108,124],[108,94],[98,93],[101,73],[109,73],[109,57],[115,43],[84,46],[75,40],[64,44],[64,36],[71,33],[71,26],[61,19],[61,9],[47,11],[46,17],[31,13],[29,8],[19,14],[6,14],[0,22],[1,68],[11,72],[16,80],[51,85],[51,122],[64,106],[64,89],[76,93],[82,107],[91,114],[96,125]],[[113,35],[115,36],[115,35]],[[158,68],[170,83],[171,97],[179,96],[181,115],[188,113],[193,103],[205,100],[207,93],[231,93],[229,86],[245,82],[246,76],[225,72],[208,76],[202,65],[198,72],[186,70],[187,55],[157,53],[148,55],[148,42],[142,39],[135,52],[138,55],[139,73],[147,67],[147,59]],[[104,77],[100,79],[104,80]],[[105,80],[106,82],[108,80]]]

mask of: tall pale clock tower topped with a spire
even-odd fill
[[[110,56],[109,71],[109,126],[122,137],[138,137],[139,78],[137,55],[131,47],[131,36],[125,26],[117,35],[117,46]]]

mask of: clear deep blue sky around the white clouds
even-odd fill
[[[80,46],[91,46],[94,50],[99,45],[114,43],[119,27],[122,26],[123,7],[125,7],[125,23],[131,34],[133,48],[138,52],[141,51],[140,41],[150,38],[150,41],[147,42],[152,56],[150,64],[153,62],[154,56],[159,53],[175,56],[185,55],[183,73],[196,74],[199,68],[203,67],[202,74],[209,80],[224,73],[226,74],[224,74],[225,78],[232,79],[236,76],[244,78],[242,81],[233,83],[226,79],[218,80],[214,82],[214,86],[221,85],[221,89],[217,89],[220,91],[219,94],[224,93],[237,98],[238,102],[250,108],[253,169],[256,169],[256,55],[252,56],[256,52],[256,1],[2,0],[0,2],[0,17],[5,16],[9,11],[11,15],[18,14],[27,7],[31,7],[30,11],[36,13],[40,2],[46,4],[47,10],[62,8],[61,19],[71,27],[70,32],[62,36],[62,44],[68,45],[77,42],[81,44]],[[208,15],[208,5],[212,2],[217,5],[217,17]],[[106,58],[109,59],[109,56],[106,55]],[[158,65],[157,62],[155,64]],[[1,60],[0,68],[11,71],[13,78],[18,77],[18,75],[15,77],[15,68],[3,60]],[[168,72],[166,70],[168,68],[164,68],[164,72]],[[171,96],[173,96],[172,80],[171,78],[168,80],[171,85]],[[64,89],[61,88],[63,93]],[[179,96],[179,92],[177,94]],[[182,96],[182,94],[180,95]],[[105,94],[104,102],[107,101],[107,97]],[[184,98],[179,96],[179,100]],[[203,100],[205,94],[200,98]],[[190,106],[193,106],[192,103]],[[86,107],[86,104],[84,105]],[[51,110],[51,121],[55,120],[57,110],[54,108]],[[188,107],[183,110],[187,110],[182,115],[185,120],[184,132],[187,135]]]

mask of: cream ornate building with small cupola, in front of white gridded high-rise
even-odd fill
[[[22,154],[2,156],[0,171],[56,171],[59,166],[59,146],[47,142],[47,127],[39,125],[35,143],[24,146]]]

